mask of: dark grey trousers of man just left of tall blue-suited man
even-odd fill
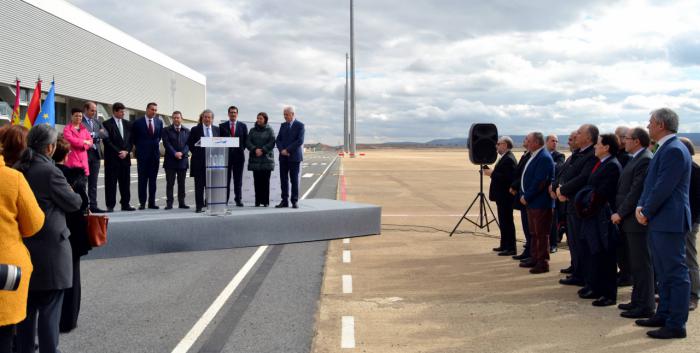
[[[649,250],[647,232],[626,232],[629,250],[630,273],[632,275],[632,304],[646,311],[653,311],[654,302],[654,268]]]

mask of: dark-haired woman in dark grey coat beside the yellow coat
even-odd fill
[[[24,240],[34,264],[34,274],[29,283],[27,318],[17,327],[19,353],[34,353],[37,326],[41,352],[57,351],[64,290],[73,286],[73,257],[66,213],[78,211],[82,200],[51,160],[56,151],[57,135],[49,125],[34,126],[27,136],[27,149],[15,164],[24,173],[46,215],[41,230]]]

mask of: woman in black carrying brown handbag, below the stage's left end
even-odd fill
[[[70,148],[68,141],[60,137],[56,142],[56,152],[53,154],[56,167],[63,172],[68,184],[70,184],[76,194],[80,195],[82,200],[80,210],[66,213],[66,225],[68,225],[70,230],[70,238],[68,240],[73,250],[73,287],[66,289],[63,295],[63,308],[59,325],[61,332],[70,332],[78,326],[78,314],[80,313],[80,257],[87,255],[88,251],[92,249],[87,236],[87,221],[85,220],[88,208],[88,197],[85,192],[87,176],[83,168],[65,165],[66,157],[68,153],[71,153]]]

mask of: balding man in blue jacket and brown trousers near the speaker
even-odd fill
[[[527,209],[530,260],[520,263],[520,267],[529,267],[530,273],[538,274],[549,272],[549,231],[554,208],[549,186],[554,180],[554,161],[544,148],[542,133],[529,134],[528,142],[531,156],[523,168],[520,203]]]

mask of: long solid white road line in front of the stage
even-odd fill
[[[241,284],[245,276],[248,274],[248,272],[250,272],[253,266],[255,266],[255,263],[258,262],[266,249],[267,245],[263,245],[255,251],[253,256],[248,259],[248,262],[243,265],[233,279],[231,279],[231,282],[229,282],[224,290],[221,291],[219,296],[216,297],[216,300],[214,300],[204,314],[202,314],[202,317],[197,320],[192,329],[190,329],[190,332],[188,332],[180,343],[175,346],[172,353],[186,353],[190,348],[192,348],[192,345],[197,341],[197,338],[199,338],[202,332],[204,332],[204,329],[206,329],[207,325],[209,325],[211,320],[213,320],[219,310],[221,310],[226,301],[231,297],[231,294],[233,294],[238,285]]]

